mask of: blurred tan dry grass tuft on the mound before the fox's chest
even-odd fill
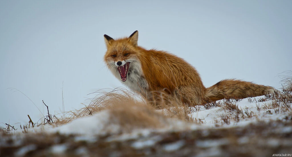
[[[191,113],[190,108],[178,100],[168,99],[167,102],[164,102],[165,104],[161,105],[164,108],[157,110],[144,97],[125,88],[116,88],[111,92],[101,92],[99,90],[91,94],[96,94],[96,96],[91,99],[88,106],[66,113],[69,116],[65,118],[53,117],[53,125],[63,125],[76,118],[91,116],[102,110],[109,110],[112,121],[124,126],[126,131],[134,127],[163,127],[167,124],[167,118],[194,121],[188,116]]]

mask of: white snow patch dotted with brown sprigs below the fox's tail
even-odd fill
[[[191,109],[193,112],[188,114],[188,116],[197,120],[197,123],[200,123],[203,127],[214,127],[216,124],[221,127],[245,126],[250,123],[256,123],[259,120],[281,120],[286,116],[285,113],[279,113],[279,108],[265,109],[265,106],[271,103],[272,100],[260,102],[260,99],[263,98],[265,98],[264,95],[253,97],[251,98],[251,101],[249,100],[250,98],[245,98],[239,101],[232,99],[218,100],[217,103],[221,103],[223,107],[211,107],[210,109],[196,107],[196,109]],[[242,112],[238,114],[235,111],[224,109],[224,101],[229,101],[230,103],[237,105]],[[258,108],[260,109],[258,110]],[[239,121],[234,119],[237,114],[239,116]],[[222,121],[222,116],[230,117],[228,124]],[[288,128],[287,131],[289,131]]]

